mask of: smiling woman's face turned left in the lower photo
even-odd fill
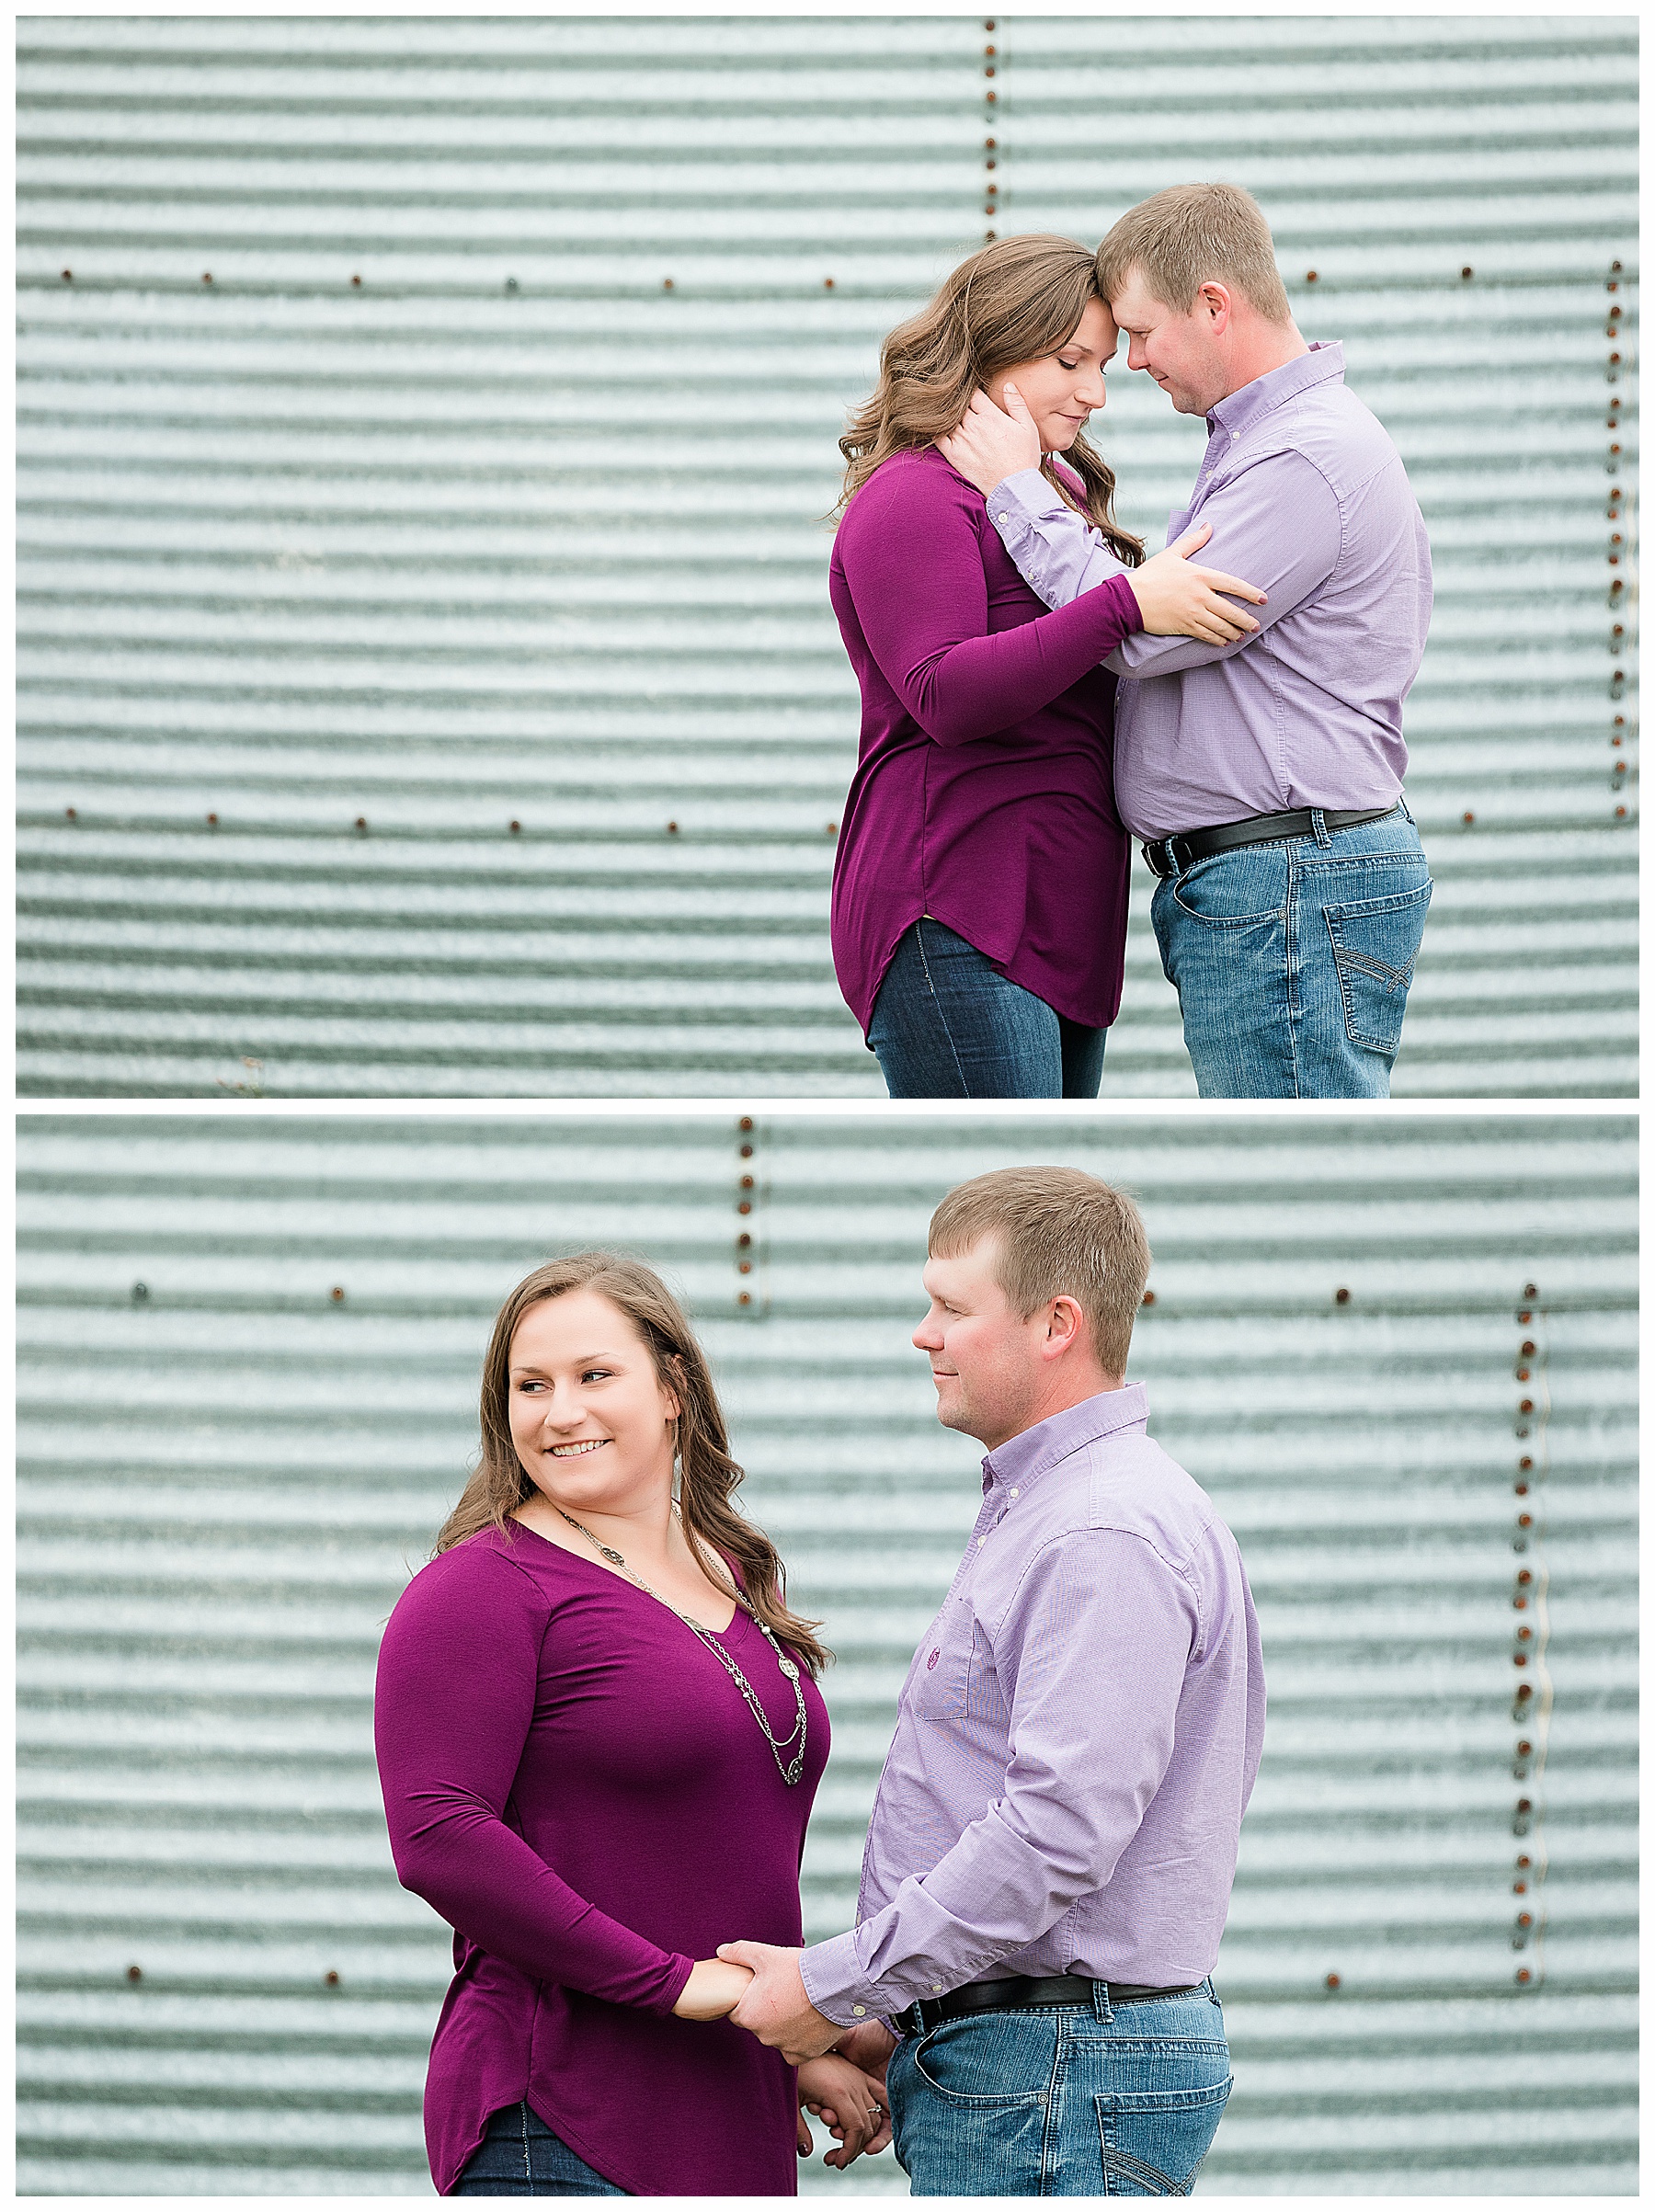
[[[644,1509],[673,1486],[677,1398],[648,1345],[595,1290],[531,1305],[507,1376],[511,1442],[535,1489],[575,1520]]]

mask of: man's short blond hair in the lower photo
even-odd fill
[[[1080,1168],[996,1168],[958,1183],[931,1214],[931,1259],[998,1234],[996,1279],[1024,1321],[1053,1298],[1086,1316],[1097,1365],[1126,1374],[1151,1250],[1124,1190]]]

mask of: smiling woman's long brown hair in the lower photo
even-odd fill
[[[730,1436],[712,1371],[684,1318],[684,1307],[653,1267],[620,1252],[575,1252],[573,1259],[547,1261],[527,1274],[500,1307],[482,1360],[478,1469],[443,1522],[436,1551],[462,1544],[478,1528],[498,1528],[509,1537],[513,1511],[540,1495],[511,1442],[511,1338],[531,1305],[562,1298],[571,1290],[595,1290],[633,1323],[648,1345],[657,1380],[679,1402],[677,1502],[690,1551],[704,1571],[726,1586],[730,1577],[724,1559],[735,1559],[741,1568],[743,1601],[779,1641],[792,1648],[810,1674],[821,1674],[832,1659],[814,1635],[821,1621],[805,1621],[788,1610],[788,1571],[781,1553],[763,1528],[737,1513],[730,1502],[743,1473],[730,1458]]]

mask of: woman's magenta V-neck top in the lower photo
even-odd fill
[[[752,1619],[719,1641],[785,1736],[792,1683]],[[792,2066],[673,2002],[721,1942],[803,1942],[828,1763],[828,1708],[803,1690],[790,1790],[712,1652],[595,1559],[513,1522],[403,1590],[374,1745],[396,1871],[454,1927],[425,2081],[438,2194],[524,2099],[631,2197],[797,2194]]]

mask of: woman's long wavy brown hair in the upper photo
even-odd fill
[[[878,385],[839,440],[845,456],[839,507],[847,507],[892,453],[914,453],[958,429],[974,392],[1066,345],[1093,299],[1102,299],[1097,263],[1084,246],[1053,232],[998,239],[962,261],[936,299],[885,341]],[[1055,460],[1082,482],[1080,511],[1117,560],[1135,568],[1144,540],[1115,522],[1115,471],[1084,436],[1066,453],[1042,453],[1040,473],[1071,507],[1078,502]]]

